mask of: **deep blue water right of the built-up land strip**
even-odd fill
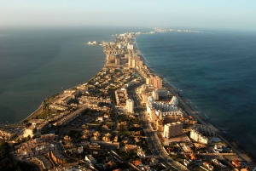
[[[147,64],[256,158],[256,35],[168,32],[137,37]]]

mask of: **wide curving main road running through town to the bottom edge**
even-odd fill
[[[148,120],[148,115],[146,112],[145,107],[141,105],[140,101],[138,100],[136,94],[136,88],[139,85],[133,85],[127,88],[127,93],[132,100],[134,100],[135,112],[139,113],[139,116],[142,121],[142,126],[144,133],[147,136],[147,141],[149,148],[151,149],[154,157],[156,157],[161,163],[163,163],[166,168],[171,170],[188,170],[188,168],[184,167],[181,163],[172,160],[169,154],[166,152],[164,146],[161,144],[158,135],[153,130],[151,123]]]

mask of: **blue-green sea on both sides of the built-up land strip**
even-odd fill
[[[148,28],[70,27],[0,30],[0,123],[17,123],[50,95],[84,83],[105,54],[89,41],[113,41]],[[256,34],[166,32],[137,37],[147,65],[256,158]]]

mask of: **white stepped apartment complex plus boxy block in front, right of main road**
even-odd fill
[[[144,93],[145,91],[141,92]],[[177,97],[172,96],[171,99],[168,94],[166,89],[155,88],[151,92],[151,96],[148,96],[146,103],[149,120],[154,124],[156,130],[164,131],[163,135],[165,138],[183,134],[183,124],[193,125],[197,123],[193,117],[184,114],[183,111],[178,109]],[[154,97],[156,100],[154,100]],[[162,98],[164,100],[160,100]]]

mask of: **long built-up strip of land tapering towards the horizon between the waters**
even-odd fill
[[[34,170],[253,170],[255,163],[148,66],[126,32],[100,45],[102,70],[0,126],[1,157]],[[255,169],[255,168],[254,168]]]

